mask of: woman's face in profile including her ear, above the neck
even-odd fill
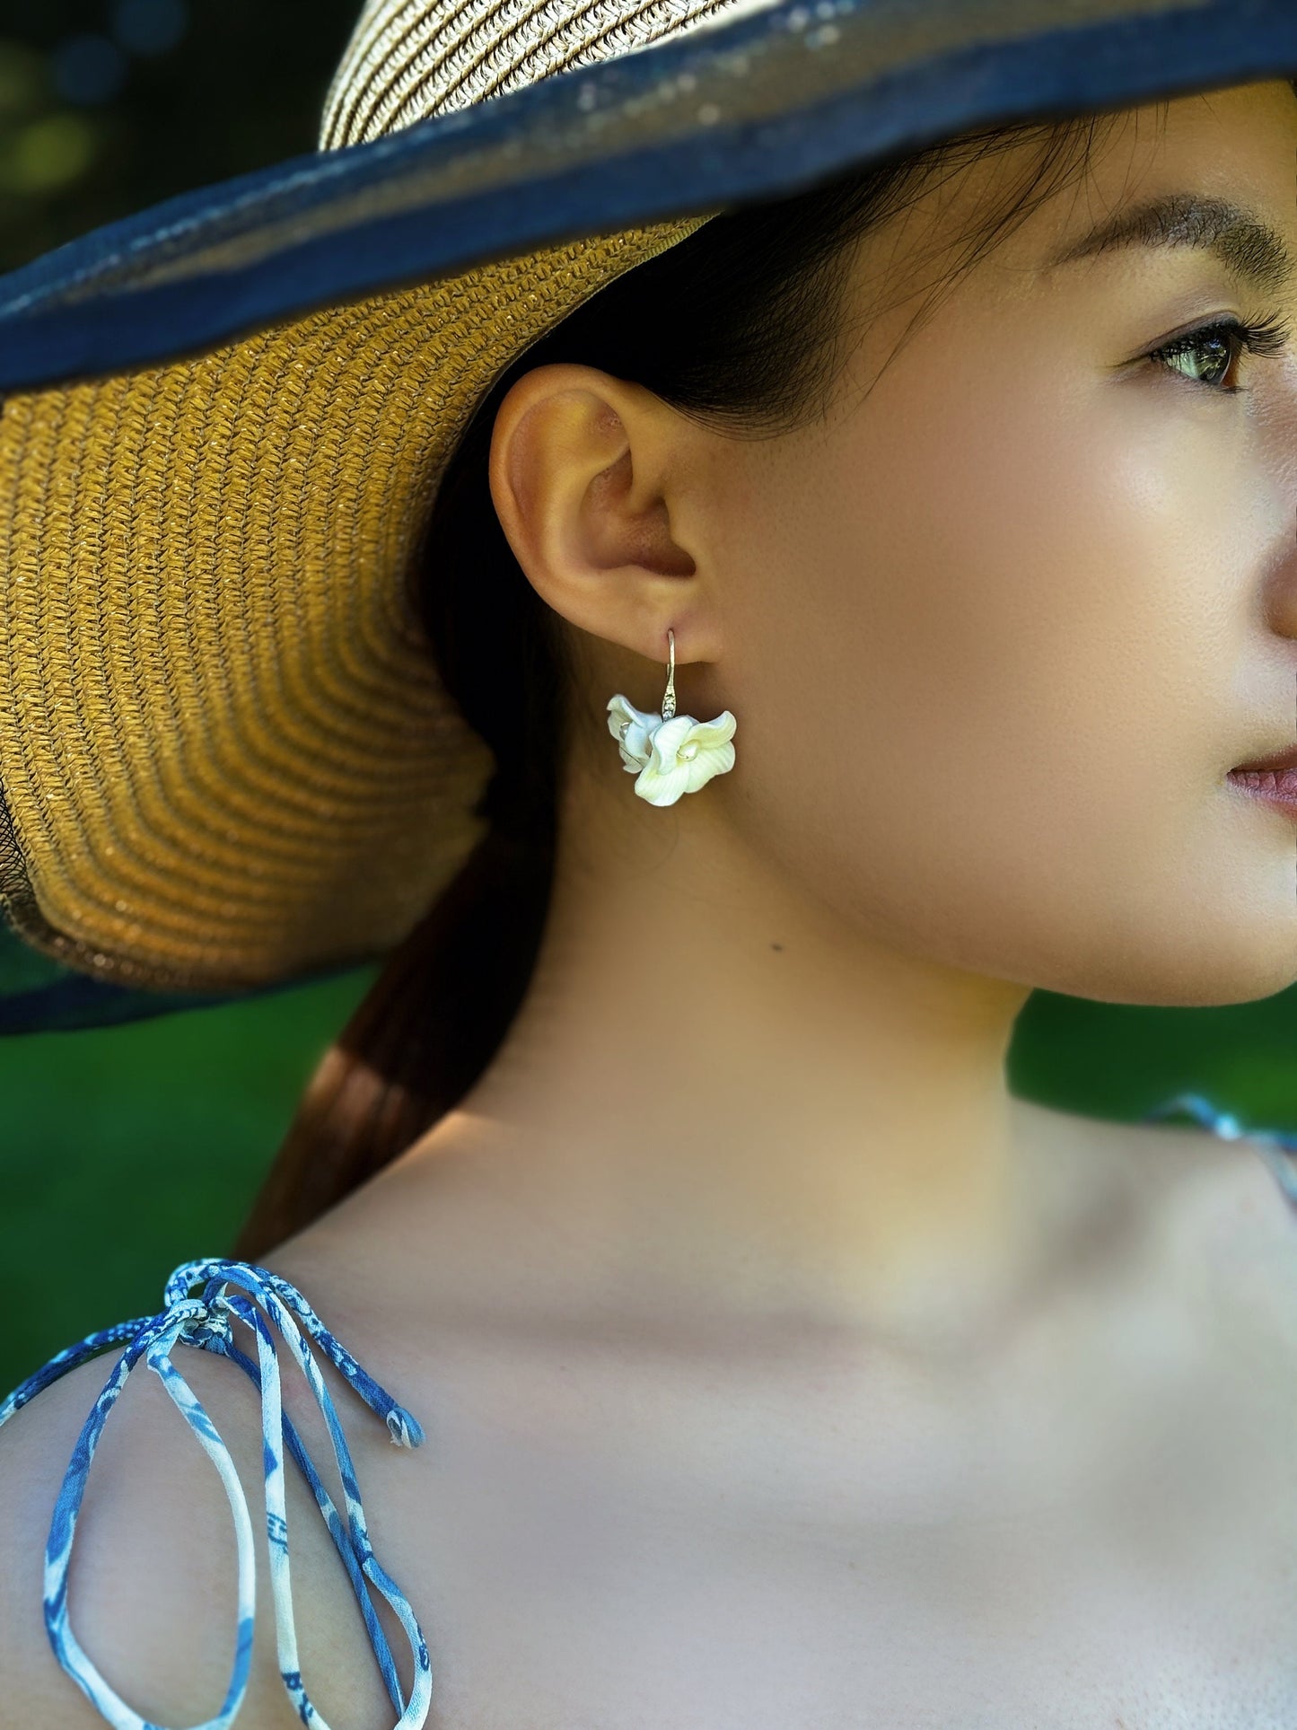
[[[1029,149],[859,244],[827,417],[737,438],[541,367],[500,408],[493,497],[572,626],[579,773],[624,823],[706,829],[946,967],[1268,996],[1297,981],[1295,834],[1226,777],[1297,742],[1297,355],[1183,339],[1295,324],[1297,277],[1205,244],[1055,260],[1169,194],[1243,206],[1297,260],[1297,100],[1266,81],[1115,116],[906,332]],[[668,626],[681,713],[738,721],[733,772],[671,817],[633,810],[604,714],[617,690],[657,706]]]

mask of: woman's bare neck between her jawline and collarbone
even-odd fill
[[[628,844],[569,792],[524,1005],[406,1161],[507,1159],[493,1195],[583,1303],[904,1337],[998,1310],[1032,1265],[1027,988],[898,953],[697,798]]]

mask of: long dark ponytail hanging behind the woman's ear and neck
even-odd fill
[[[565,661],[555,616],[519,569],[489,497],[503,389],[479,408],[443,476],[410,597],[446,689],[495,753],[476,806],[489,827],[325,1052],[235,1239],[242,1261],[360,1189],[469,1093],[536,964],[553,886]],[[432,554],[455,581],[424,580]]]

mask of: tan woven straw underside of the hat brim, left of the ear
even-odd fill
[[[3,403],[0,896],[29,943],[239,990],[410,931],[493,766],[406,602],[441,469],[524,348],[706,220]]]

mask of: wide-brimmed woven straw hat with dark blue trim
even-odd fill
[[[149,991],[382,953],[484,827],[405,573],[531,343],[726,206],[1294,67],[1292,0],[368,0],[318,154],[0,279],[12,927]]]

